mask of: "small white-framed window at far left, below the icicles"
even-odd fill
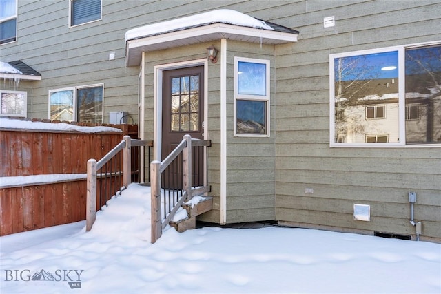
[[[0,90],[0,116],[26,117],[28,92]]]

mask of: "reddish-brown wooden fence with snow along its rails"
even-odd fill
[[[114,127],[123,132],[1,129],[0,177],[86,174],[90,158],[101,159],[127,134],[137,137],[136,125]],[[0,178],[2,186],[6,180]],[[85,199],[85,179],[1,188],[0,235],[85,220]]]

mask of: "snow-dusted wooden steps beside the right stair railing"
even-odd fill
[[[174,227],[179,233],[183,233],[189,229],[196,229],[196,216],[210,211],[213,208],[213,198],[211,196],[204,197],[206,199],[194,205],[184,203],[182,207],[187,211],[187,218],[178,220],[177,222],[170,221],[170,227]]]

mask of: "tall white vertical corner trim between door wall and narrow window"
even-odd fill
[[[220,39],[220,224],[227,223],[227,39]]]

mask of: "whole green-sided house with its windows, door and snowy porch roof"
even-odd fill
[[[212,140],[207,222],[441,242],[441,1],[0,3],[2,116]]]

